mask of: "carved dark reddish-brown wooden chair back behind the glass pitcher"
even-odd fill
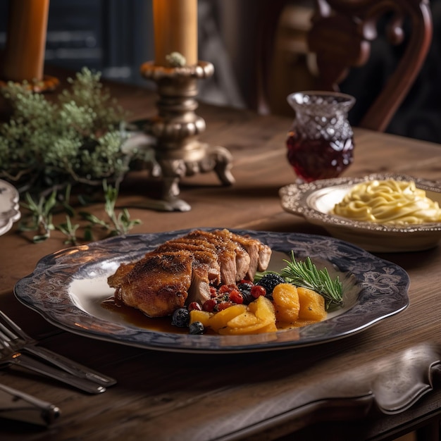
[[[286,4],[286,0],[273,0],[262,14],[265,25],[259,43],[256,103],[262,113],[271,111],[267,99],[269,66],[278,17]],[[316,89],[337,91],[352,68],[368,62],[380,22],[385,23],[387,42],[404,49],[395,71],[357,125],[384,132],[428,54],[432,38],[429,1],[315,0],[307,44],[316,58]]]

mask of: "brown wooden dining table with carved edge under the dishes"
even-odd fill
[[[154,113],[147,89],[117,87],[113,93],[133,118]],[[132,218],[143,221],[132,232],[222,226],[326,234],[280,206],[279,188],[294,180],[285,159],[289,118],[206,105],[198,113],[207,123],[201,138],[232,152],[236,184],[222,187],[213,173],[185,178],[181,195],[192,210],[156,212],[139,208],[149,180],[134,173],[119,199]],[[356,130],[355,142],[355,161],[345,175],[391,171],[441,179],[441,149],[435,144],[367,130]],[[91,210],[103,215],[101,204]],[[439,364],[431,372],[433,390],[395,415],[376,406],[375,393],[387,393],[390,382],[378,390],[371,371],[387,363],[395,366],[393,378],[417,372],[429,381],[428,366],[418,371],[412,355],[427,355],[433,362],[441,356],[440,247],[378,255],[409,273],[411,304],[362,333],[275,352],[179,354],[73,335],[20,304],[13,296],[15,282],[64,245],[61,233],[31,244],[15,230],[0,237],[0,308],[44,346],[115,377],[118,384],[90,396],[37,375],[1,370],[0,383],[62,410],[48,429],[1,421],[1,440],[288,440],[294,432],[296,440],[392,440],[418,428],[422,439],[438,439]]]

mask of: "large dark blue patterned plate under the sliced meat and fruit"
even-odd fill
[[[50,254],[37,263],[32,274],[17,282],[15,296],[50,323],[73,333],[177,352],[253,352],[330,342],[358,333],[409,304],[407,273],[352,244],[332,237],[243,230],[234,231],[256,237],[273,249],[270,268],[275,271],[286,266],[283,259],[291,250],[297,259],[310,256],[318,268],[328,268],[343,283],[344,307],[328,313],[320,323],[277,333],[190,335],[171,325],[168,330],[158,330],[152,326],[158,319],[144,318],[141,313],[134,319],[101,304],[113,295],[107,277],[120,263],[140,259],[188,231],[118,236]]]

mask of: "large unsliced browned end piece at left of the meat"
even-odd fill
[[[169,316],[185,305],[193,261],[190,251],[147,254],[133,265],[121,265],[108,285],[116,288],[116,299],[147,316]]]

